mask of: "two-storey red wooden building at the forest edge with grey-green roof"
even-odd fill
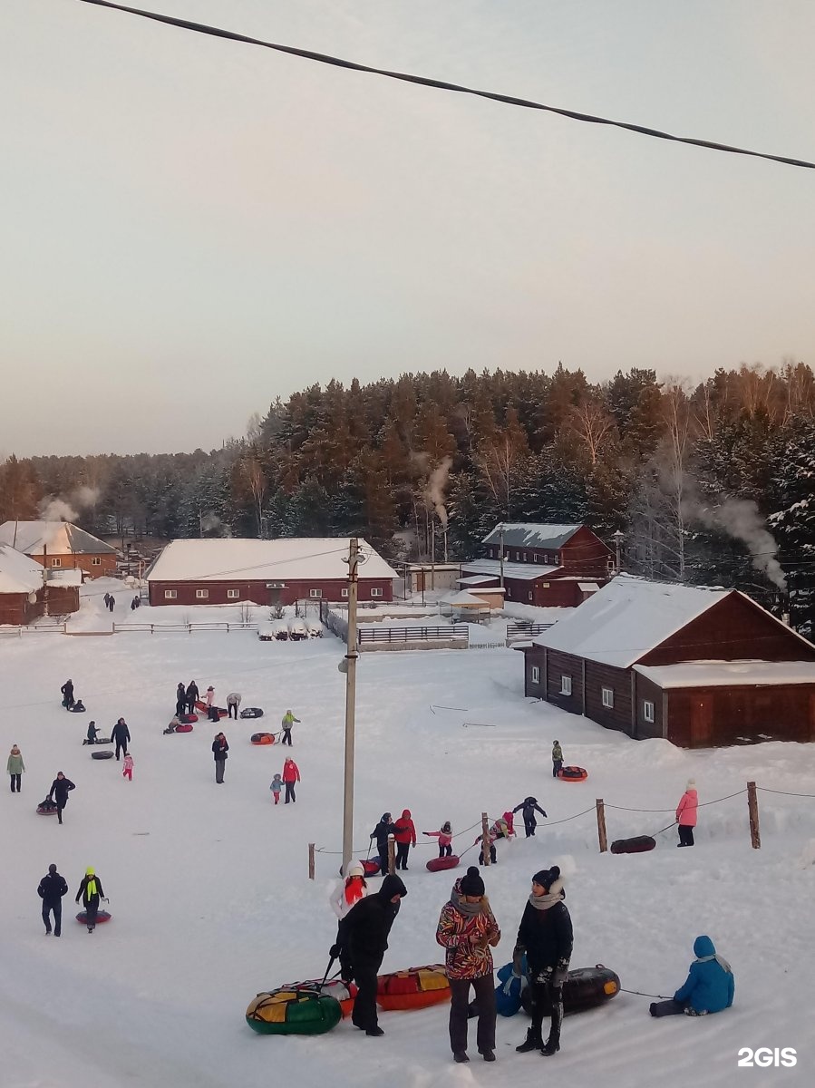
[[[515,604],[575,608],[605,585],[613,567],[610,551],[585,526],[504,522],[483,544],[483,558],[461,564],[459,585],[499,585],[503,568],[506,599]]]

